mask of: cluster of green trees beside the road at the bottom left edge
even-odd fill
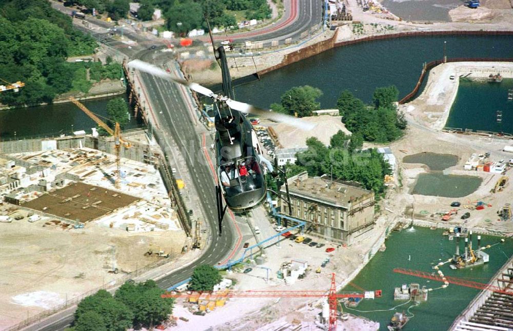
[[[173,299],[153,280],[135,284],[127,281],[114,296],[101,289],[86,297],[75,311],[74,331],[124,331],[131,327],[152,327],[171,314]]]

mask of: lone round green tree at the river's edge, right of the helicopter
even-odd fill
[[[282,95],[281,105],[290,115],[310,116],[312,111],[321,109],[316,101],[321,95],[320,89],[308,85],[293,87]]]

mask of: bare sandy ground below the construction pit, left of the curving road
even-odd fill
[[[43,227],[43,220],[27,222],[26,210],[16,214],[25,218],[0,223],[0,329],[124,276],[109,273],[113,267],[133,271],[157,261],[144,256],[150,244],[174,260],[186,239],[182,231],[129,234],[91,223]]]

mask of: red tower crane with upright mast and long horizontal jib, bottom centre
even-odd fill
[[[201,294],[212,294],[212,291],[203,291]],[[215,294],[214,294],[215,295]],[[166,293],[163,298],[188,298],[198,296],[187,293]],[[223,294],[226,298],[328,298],[329,304],[329,331],[337,329],[337,300],[342,298],[363,298],[363,293],[337,293],[335,274],[331,274],[331,286],[328,290],[230,290]],[[381,297],[381,290],[374,291],[374,297]]]

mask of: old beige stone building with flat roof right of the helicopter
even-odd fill
[[[306,171],[287,180],[292,217],[306,221],[305,233],[352,244],[374,226],[374,192]],[[280,191],[285,194],[285,185]],[[288,210],[279,201],[281,210]]]

